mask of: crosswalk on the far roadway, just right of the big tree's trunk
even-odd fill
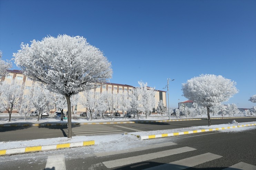
[[[125,131],[108,127],[105,125],[81,125],[72,127],[72,132],[76,136],[85,135],[104,135],[104,134],[116,134],[116,133],[126,133]]]

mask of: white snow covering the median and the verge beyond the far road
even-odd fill
[[[77,116],[79,117],[79,116]],[[204,118],[204,117],[200,117]],[[4,120],[3,120],[4,119]],[[0,124],[4,123],[10,123],[6,118],[1,118]],[[168,117],[160,117],[160,116],[152,116],[149,117],[147,120],[166,120]],[[175,119],[175,118],[171,118]],[[181,119],[181,118],[179,118]],[[102,121],[109,121],[110,118],[104,118],[103,120],[93,120],[88,121],[86,118],[77,118],[72,119],[72,122],[78,122],[78,123],[85,123],[85,122],[102,122]],[[136,118],[127,118],[128,121],[134,121],[137,120]],[[140,117],[140,120],[146,120],[145,117]],[[123,118],[115,118],[115,121],[123,121]],[[11,123],[38,123],[36,121],[36,118],[29,118],[28,120],[24,121],[23,118],[13,118]],[[43,122],[62,122],[59,121],[56,118],[46,117],[43,119],[40,119],[39,123]],[[64,122],[64,121],[63,121]],[[246,125],[246,124],[255,124],[256,122],[245,122],[245,123],[239,123],[237,124],[234,121],[230,121],[230,124],[221,124],[221,125],[212,125],[212,126],[194,126],[194,127],[188,127],[188,128],[178,128],[178,129],[167,129],[164,131],[147,131],[147,132],[134,132],[134,133],[128,133],[127,135],[124,134],[112,134],[112,135],[98,135],[98,136],[73,136],[71,139],[68,139],[67,137],[60,137],[60,138],[48,138],[48,139],[36,139],[36,140],[23,140],[23,141],[10,141],[10,142],[0,142],[1,150],[2,149],[12,149],[12,148],[24,148],[24,147],[30,147],[30,146],[38,146],[39,144],[43,144],[44,146],[47,145],[56,145],[56,144],[65,144],[65,143],[76,143],[81,141],[89,141],[89,140],[95,140],[95,147],[99,146],[101,147],[101,144],[107,144],[107,143],[134,143],[134,140],[140,140],[134,135],[129,134],[136,134],[136,135],[150,135],[150,134],[163,134],[163,133],[175,133],[175,132],[185,132],[185,131],[193,131],[197,129],[209,129],[209,128],[217,128],[217,127],[228,127],[228,126],[237,126],[237,125]],[[245,131],[248,129],[256,129],[256,126],[246,126],[246,127],[239,127],[239,128],[232,128],[232,129],[224,129],[220,132],[239,132],[239,131]],[[150,139],[154,140],[154,139]]]

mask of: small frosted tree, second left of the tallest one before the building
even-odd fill
[[[118,105],[118,108],[122,111],[122,115],[124,117],[125,111],[127,112],[131,107],[129,95],[128,93],[125,93],[125,92],[118,93],[117,95],[119,95],[118,97],[119,100],[117,101],[117,105]]]

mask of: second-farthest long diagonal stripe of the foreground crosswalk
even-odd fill
[[[145,155],[139,155],[139,156],[134,156],[134,157],[129,157],[129,158],[122,158],[122,159],[117,159],[117,160],[112,160],[112,161],[106,161],[102,162],[107,168],[114,168],[114,167],[119,167],[119,166],[124,166],[124,165],[129,165],[132,163],[137,163],[137,162],[142,162],[150,159],[156,159],[156,158],[161,158],[169,155],[175,155],[175,154],[180,154],[183,152],[188,152],[188,151],[193,151],[196,150],[194,148],[190,147],[182,147],[182,148],[176,148],[176,149],[170,149],[170,150],[165,150],[165,151],[160,151],[160,152],[154,152],[151,154],[145,154]]]

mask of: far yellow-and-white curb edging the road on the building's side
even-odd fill
[[[211,119],[228,119],[228,118],[246,118],[246,117],[224,117],[224,118],[211,118]],[[249,117],[256,118],[256,117]],[[173,122],[173,121],[195,121],[195,120],[208,120],[208,118],[193,118],[193,119],[180,119],[180,120],[163,120],[163,121],[130,121],[130,122],[93,122],[93,123],[71,123],[72,125],[98,125],[98,124],[126,124],[126,123],[152,123],[152,122]],[[68,123],[36,123],[36,124],[0,124],[0,127],[22,127],[22,126],[64,126]]]

